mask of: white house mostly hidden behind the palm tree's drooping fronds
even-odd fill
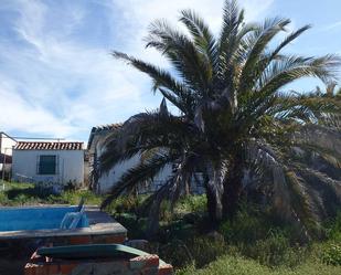
[[[116,130],[119,130],[121,124],[110,124],[98,127],[93,127],[88,139],[88,154],[89,165],[92,166],[90,184],[98,193],[105,193],[117,182],[117,180],[130,168],[139,163],[140,158],[138,156],[128,159],[119,165],[113,167],[108,172],[100,173],[98,170],[99,159],[105,151],[105,146],[108,137]],[[153,180],[150,189],[157,189],[162,182],[162,179],[171,173],[171,167],[167,167],[163,171]],[[142,188],[141,188],[142,190]],[[143,191],[148,191],[143,189]]]

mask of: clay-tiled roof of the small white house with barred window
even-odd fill
[[[14,150],[83,150],[78,141],[19,141]]]

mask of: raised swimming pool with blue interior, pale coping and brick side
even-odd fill
[[[126,241],[127,230],[98,207],[84,205],[83,210],[84,216],[77,226],[64,229],[61,226],[64,215],[78,211],[77,205],[0,208],[0,274],[21,274],[3,272],[3,268],[12,266],[13,261],[23,266],[41,246],[122,244]]]

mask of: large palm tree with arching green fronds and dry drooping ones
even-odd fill
[[[306,178],[313,171],[303,166],[299,152],[313,140],[302,137],[319,129],[340,144],[339,131],[324,131],[327,126],[320,125],[321,117],[340,112],[340,101],[283,88],[307,76],[333,80],[339,59],[284,54],[283,50],[309,25],[288,33],[273,46],[274,39],[287,32],[290,20],[245,23],[244,10],[233,0],[225,1],[219,35],[191,10],[181,11],[180,22],[189,33],[159,20],[150,25],[146,39],[147,46],[158,50],[172,65],[171,71],[113,53],[148,74],[153,92],[164,98],[159,109],[132,116],[113,134],[102,158],[103,171],[136,155],[147,156],[147,160],[145,157],[116,182],[103,205],[172,165],[173,173],[148,200],[151,218],[158,218],[162,200],[177,201],[188,182],[201,180],[209,214],[216,224],[233,216],[243,191],[258,182],[281,213],[308,226],[316,216],[311,207],[323,199],[316,199],[318,192],[307,192]],[[179,114],[170,113],[167,103]],[[309,150],[338,160],[341,156],[340,148],[310,145]],[[245,177],[249,170],[253,180]],[[329,188],[340,199],[340,182],[330,181]]]

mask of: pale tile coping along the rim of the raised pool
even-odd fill
[[[65,204],[39,205],[29,208],[54,208],[65,207]],[[72,205],[68,205],[72,207]],[[0,208],[1,209],[22,209],[22,208]],[[12,239],[34,239],[34,237],[57,237],[57,236],[84,236],[84,235],[127,235],[127,230],[116,222],[107,213],[100,211],[97,205],[85,205],[85,213],[89,226],[82,229],[62,230],[21,230],[21,231],[0,231],[1,240]]]

